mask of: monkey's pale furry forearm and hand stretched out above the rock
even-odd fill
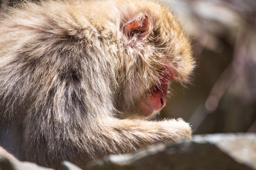
[[[156,143],[172,143],[180,139],[191,138],[191,128],[182,119],[159,122],[113,119],[108,122],[105,125],[108,126],[106,127],[108,131],[103,134],[106,135],[106,145],[109,145],[109,148],[112,146],[114,150],[122,148],[118,151],[119,153],[131,152]],[[113,143],[108,143],[108,141]]]

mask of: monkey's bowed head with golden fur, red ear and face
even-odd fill
[[[155,1],[123,3],[113,28],[116,108],[124,117],[148,118],[166,104],[170,81],[189,81],[195,62],[189,39],[168,8]]]

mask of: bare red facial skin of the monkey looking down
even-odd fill
[[[161,84],[152,87],[150,95],[141,101],[138,108],[143,117],[152,117],[154,113],[158,113],[165,106],[168,81],[175,77],[175,74],[171,70],[168,68],[160,72]]]

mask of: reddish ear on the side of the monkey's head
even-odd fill
[[[141,39],[147,36],[149,31],[150,21],[148,15],[139,15],[130,22],[124,24],[123,32],[129,38],[136,36]]]

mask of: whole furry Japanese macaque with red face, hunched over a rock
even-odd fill
[[[189,40],[150,0],[26,2],[0,21],[0,145],[58,169],[191,137],[148,120],[189,80]]]

